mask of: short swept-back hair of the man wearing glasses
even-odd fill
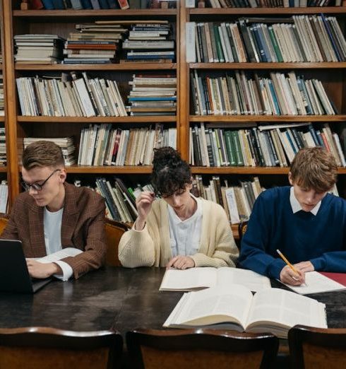
[[[36,167],[65,167],[61,148],[51,141],[37,141],[26,146],[23,151],[22,165],[25,170]]]

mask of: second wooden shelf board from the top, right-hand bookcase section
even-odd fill
[[[321,63],[190,63],[190,69],[346,69],[346,62]]]

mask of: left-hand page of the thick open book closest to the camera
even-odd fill
[[[186,293],[164,327],[201,326],[235,322],[243,327],[252,300],[248,288],[237,284]],[[168,325],[167,325],[168,324]]]

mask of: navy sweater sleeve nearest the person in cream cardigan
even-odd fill
[[[267,199],[261,194],[255,201],[246,233],[241,240],[239,264],[259,274],[279,279],[285,266],[281,259],[275,259],[267,253],[270,242],[270,209]]]

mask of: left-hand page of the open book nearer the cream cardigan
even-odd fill
[[[163,276],[160,291],[191,291],[195,288],[215,286],[215,268],[167,269]]]

